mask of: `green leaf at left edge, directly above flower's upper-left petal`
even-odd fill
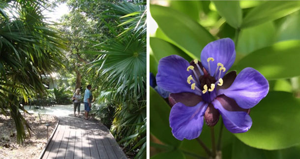
[[[191,57],[185,54],[178,47],[160,38],[150,37],[150,47],[157,61],[170,55],[179,55],[187,61],[192,60]]]

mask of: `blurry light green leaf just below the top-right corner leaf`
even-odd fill
[[[272,22],[241,30],[237,52],[248,54],[270,46],[274,42],[274,34],[275,27]]]

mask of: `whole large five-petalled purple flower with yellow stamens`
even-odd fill
[[[225,127],[232,133],[246,132],[252,126],[249,116],[269,92],[267,79],[247,67],[237,75],[226,74],[236,58],[235,44],[230,38],[210,42],[201,52],[201,62],[191,63],[177,55],[159,61],[156,82],[169,91],[170,127],[179,139],[197,138],[203,127],[214,126],[221,114]]]

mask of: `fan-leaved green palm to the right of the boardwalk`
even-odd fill
[[[96,70],[101,90],[110,90],[110,99],[118,105],[112,133],[129,151],[140,150],[136,158],[146,158],[146,4],[123,0],[110,6],[99,17],[116,18],[119,28],[107,27],[120,32],[93,47],[98,58],[90,69]]]

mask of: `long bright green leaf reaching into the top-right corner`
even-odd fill
[[[266,1],[251,9],[242,20],[241,28],[256,26],[269,22],[300,9],[300,1]]]

